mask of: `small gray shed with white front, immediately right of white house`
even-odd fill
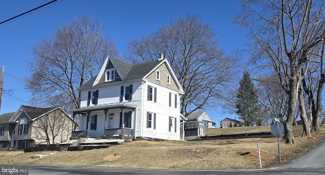
[[[202,121],[187,121],[184,126],[185,137],[205,136],[205,127]]]

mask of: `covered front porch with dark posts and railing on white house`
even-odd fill
[[[135,135],[136,107],[119,103],[72,109],[73,117],[77,114],[80,117],[79,131],[73,131],[72,137],[132,139]]]

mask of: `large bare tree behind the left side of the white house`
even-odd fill
[[[25,86],[37,99],[34,102],[80,107],[76,89],[99,72],[108,54],[118,55],[114,44],[102,36],[103,30],[100,21],[82,15],[32,48],[34,57],[27,62],[31,75]]]

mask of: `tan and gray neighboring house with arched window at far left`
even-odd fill
[[[53,119],[53,116],[55,116],[56,121],[58,119],[67,119],[64,120],[64,125],[67,126],[64,129],[61,125],[59,125],[60,127],[57,127],[57,125],[55,125],[57,123],[53,122],[51,127],[54,129],[59,128],[59,134],[54,140],[55,143],[68,140],[71,136],[74,125],[78,124],[74,122],[71,116],[60,107],[39,108],[21,105],[16,112],[0,115],[1,147],[16,147],[17,149],[23,149],[32,141],[36,144],[46,143],[46,140],[44,139],[46,133],[39,128],[44,124],[42,121],[47,121],[47,124],[51,125],[50,121]],[[49,136],[51,137],[51,135]]]

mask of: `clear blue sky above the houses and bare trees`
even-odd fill
[[[0,22],[50,1],[1,1]],[[171,18],[185,16],[186,13],[198,14],[204,23],[214,28],[219,47],[225,53],[230,53],[245,47],[245,34],[232,22],[240,10],[241,1],[238,0],[59,0],[42,10],[0,24],[0,65],[5,66],[0,114],[14,112],[20,105],[30,105],[30,94],[24,90],[23,79],[30,74],[26,60],[32,56],[31,47],[51,37],[56,27],[63,22],[69,22],[81,14],[102,21],[104,35],[115,43],[120,54],[123,54],[128,41],[157,31],[161,25],[168,24]],[[234,118],[234,115],[221,111],[207,112],[218,123],[226,117]]]

